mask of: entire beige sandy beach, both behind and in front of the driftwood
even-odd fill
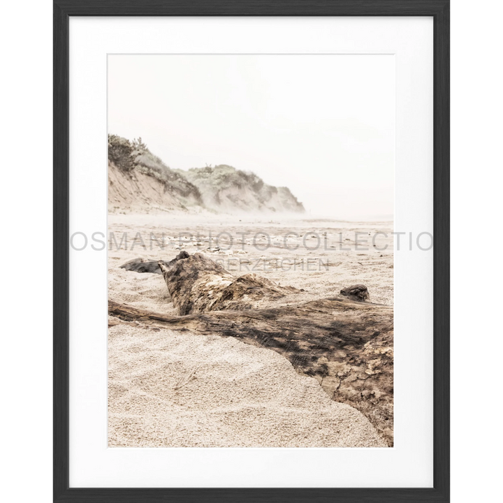
[[[110,214],[108,226],[109,298],[152,312],[177,315],[163,277],[119,266],[169,261],[182,249],[237,277],[255,272],[298,289],[259,307],[330,298],[351,284],[365,284],[370,302],[393,305],[392,222],[152,212]],[[128,244],[118,249],[124,233]],[[110,318],[108,354],[109,446],[388,445],[319,377],[298,374],[272,349]]]

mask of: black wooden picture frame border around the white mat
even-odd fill
[[[51,502],[446,502],[451,500],[451,1],[55,0],[51,2]],[[434,18],[434,487],[68,487],[68,20],[70,16]]]

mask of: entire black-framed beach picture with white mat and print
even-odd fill
[[[51,498],[448,501],[451,3],[51,3]]]

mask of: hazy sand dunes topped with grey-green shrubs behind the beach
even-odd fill
[[[273,187],[233,166],[173,170],[146,145],[108,136],[108,203],[113,213],[297,212],[305,209],[287,187]]]

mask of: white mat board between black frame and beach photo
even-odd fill
[[[432,18],[71,17],[70,233],[107,233],[108,53],[395,54],[395,231],[432,233]],[[70,486],[432,487],[432,250],[395,252],[393,449],[108,449],[107,261],[71,249]]]

